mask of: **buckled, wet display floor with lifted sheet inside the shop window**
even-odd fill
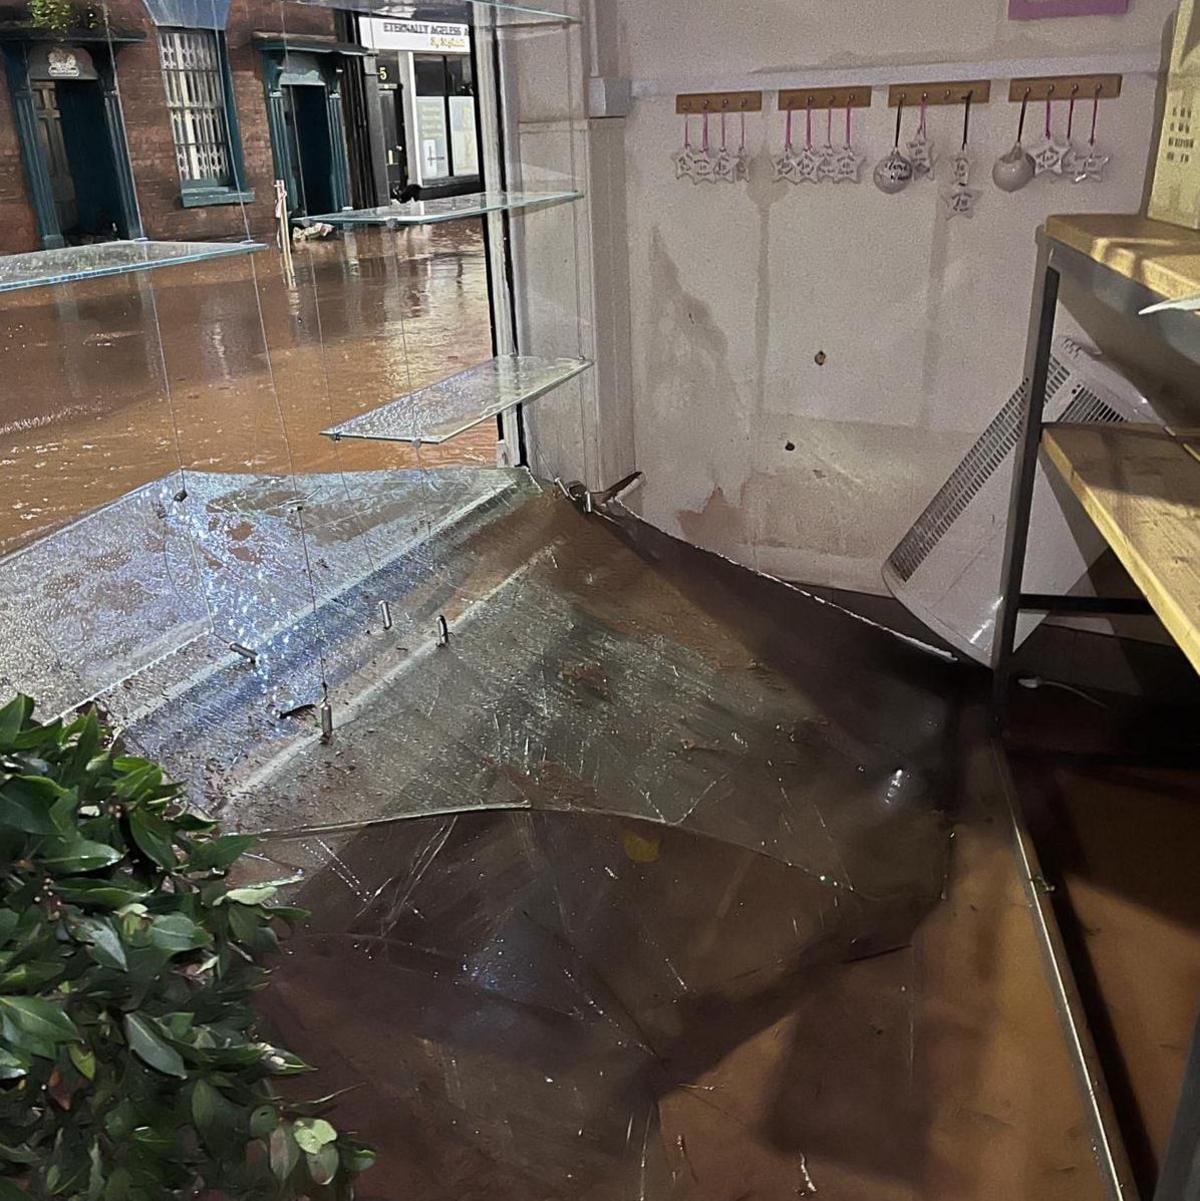
[[[362,1196],[1106,1196],[955,664],[519,471],[177,484],[0,561],[0,669],[299,873]]]

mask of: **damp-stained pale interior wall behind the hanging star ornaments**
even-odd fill
[[[1098,142],[1112,154],[1103,184],[1037,180],[1015,196],[990,178],[1017,123],[1008,78],[993,80],[971,123],[979,211],[953,221],[941,181],[898,196],[870,183],[892,139],[885,89],[856,114],[868,156],[856,187],[772,183],[783,142],[772,91],[747,120],[748,185],[676,181],[673,95],[840,65],[1029,60],[1037,73],[1038,60],[1079,55],[1121,70],[1159,50],[1175,5],[1010,22],[1007,0],[613,2],[619,73],[663,92],[637,98],[621,123],[629,408],[646,477],[632,503],[669,533],[774,575],[883,592],[883,560],[1020,382],[1037,227],[1056,211],[1139,208],[1157,79],[1127,74],[1122,97],[1102,104]],[[1065,106],[1056,108],[1061,133]],[[1089,118],[1085,106],[1076,137]],[[1041,120],[1031,108],[1027,142]],[[816,125],[824,141],[824,119]],[[802,137],[802,120],[796,129]],[[930,131],[953,153],[961,108],[931,109]]]

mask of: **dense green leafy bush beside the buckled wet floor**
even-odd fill
[[[264,1041],[279,883],[95,713],[0,709],[0,1201],[345,1199],[371,1151],[285,1101]]]

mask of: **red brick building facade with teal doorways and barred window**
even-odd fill
[[[308,149],[305,172],[320,168],[333,181],[326,186],[322,178],[310,186],[320,193],[315,203],[329,204],[316,211],[348,203],[341,90],[346,71],[359,70],[362,52],[339,41],[332,10],[228,0],[226,12],[225,2],[108,0],[107,22],[101,12],[58,38],[35,29],[20,8],[0,11],[7,77],[0,82],[0,253],[106,235],[267,237],[274,228],[276,175],[288,181],[292,210],[306,211],[295,162],[302,144],[315,148]],[[193,20],[209,28],[193,32]],[[209,47],[215,67],[201,64],[211,67],[201,84],[220,92],[223,79],[223,94],[207,97],[205,136],[196,133],[202,126],[196,114],[178,112],[181,91],[189,101],[197,85],[172,84],[173,113],[165,65],[181,62],[184,73],[203,74],[195,64]],[[55,79],[73,59],[78,78]],[[47,114],[50,104],[61,106],[61,114]],[[220,137],[211,129],[220,126],[222,106],[223,149],[205,142]],[[89,129],[101,135],[85,137]],[[106,142],[105,129],[114,149],[91,159],[96,144]],[[207,172],[213,179],[185,179]],[[101,178],[102,197],[82,195]],[[103,228],[86,228],[89,220]]]

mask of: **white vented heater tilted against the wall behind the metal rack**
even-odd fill
[[[1013,459],[1023,408],[1021,384],[883,567],[884,582],[897,600],[953,646],[983,663],[991,661]],[[1050,357],[1045,420],[1162,424],[1150,401],[1095,351],[1061,336],[1055,339]],[[1103,549],[1103,539],[1067,495],[1063,482],[1051,479],[1039,462],[1022,590],[1089,592],[1080,585]],[[1044,616],[1020,615],[1017,644]]]

